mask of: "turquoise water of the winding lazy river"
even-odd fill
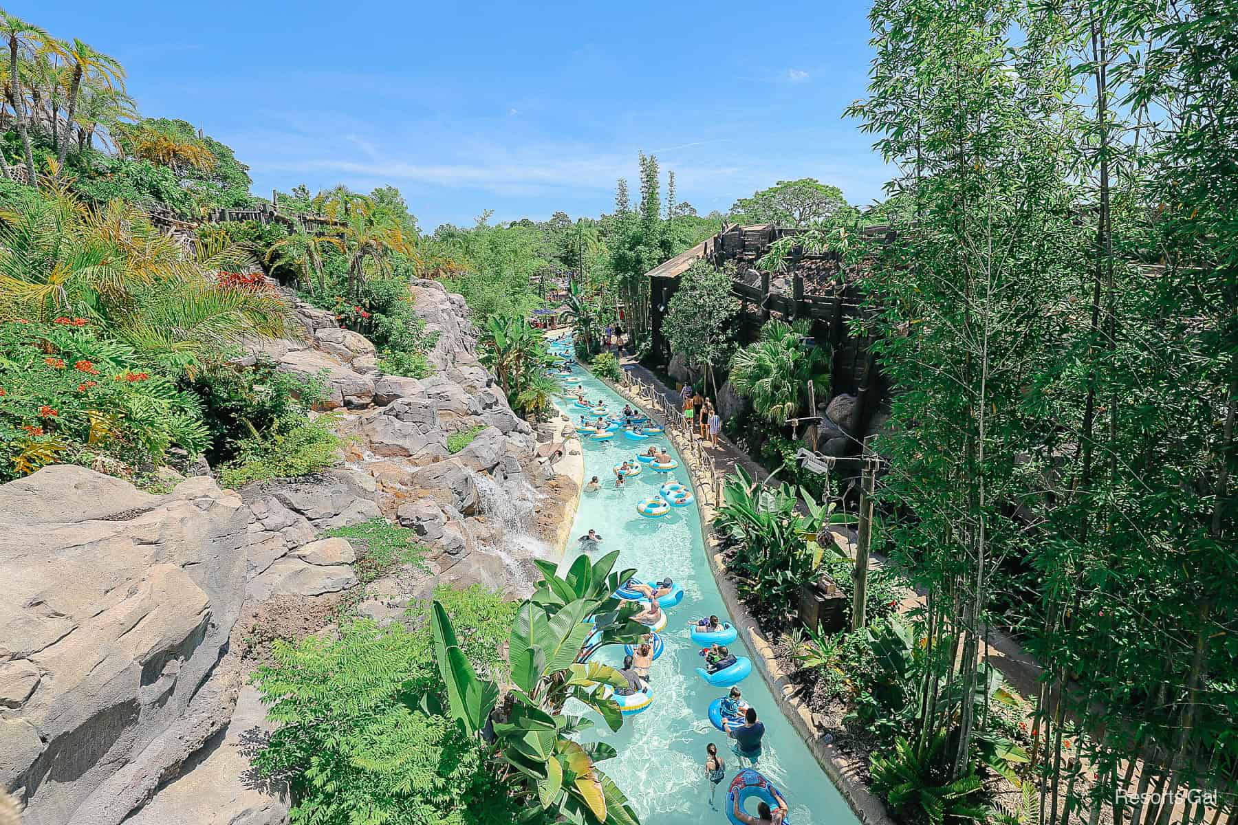
[[[605,400],[610,414],[623,409],[624,398],[588,371],[577,367],[576,375],[583,378],[581,386],[589,401]],[[571,398],[560,398],[556,403],[573,423],[579,421],[583,411],[574,408]],[[588,714],[597,725],[586,731],[582,740],[603,738],[619,751],[619,756],[603,762],[602,768],[628,794],[645,825],[724,824],[727,820],[722,809],[727,788],[740,766],[739,758],[730,751],[732,740],[709,724],[706,710],[713,699],[729,689],[708,685],[696,674],[701,657],[688,637],[687,622],[709,613],[724,618],[729,616],[706,563],[696,503],[671,508],[670,515],[662,518],[645,518],[636,512],[638,502],[656,495],[659,486],[671,479],[691,486],[682,460],[680,468],[670,474],[654,472],[641,465],[640,475],[630,479],[623,490],[615,489],[614,465],[633,459],[650,444],[666,445],[678,459],[666,437],[634,442],[620,430],[609,442],[584,438],[584,480],[588,482],[592,476],[598,476],[602,490],[582,494],[572,526],[573,541],[568,544],[563,566],[571,565],[581,552],[574,539],[593,528],[603,539],[594,555],[619,549],[617,569],[636,568],[643,579],[671,576],[683,585],[685,596],[682,602],[666,611],[669,623],[661,633],[666,652],[654,662],[650,674],[652,705],[625,717],[618,733],[612,733],[597,714]],[[753,652],[745,643],[747,630],[740,630],[739,641],[730,649],[737,656],[751,658]],[[595,658],[619,665],[623,647],[610,646]],[[851,808],[781,715],[755,669],[739,686],[766,729],[763,753],[755,768],[782,790],[791,808],[790,823],[855,823]],[[582,714],[587,709],[577,704],[568,710]],[[709,742],[718,746],[719,756],[727,764],[727,778],[714,798],[717,809],[709,806],[709,783],[704,779],[704,748]]]

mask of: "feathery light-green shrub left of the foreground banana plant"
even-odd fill
[[[435,591],[462,628],[462,649],[490,672],[515,602],[482,588]],[[428,602],[427,602],[428,604]],[[279,729],[254,757],[286,777],[297,823],[473,825],[520,819],[506,772],[444,711],[430,625],[345,623],[338,641],[276,642],[255,683]],[[463,631],[463,628],[468,631]],[[545,821],[545,820],[537,820]]]

